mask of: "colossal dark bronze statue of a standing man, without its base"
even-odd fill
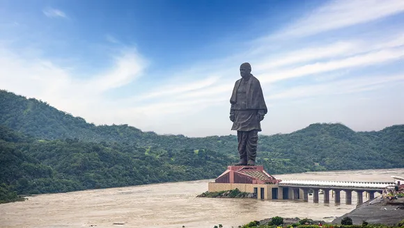
[[[251,65],[240,66],[241,79],[235,81],[230,99],[232,130],[237,131],[240,162],[235,165],[255,165],[258,131],[267,114],[260,81],[251,74]]]

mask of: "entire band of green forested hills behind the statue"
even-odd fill
[[[0,200],[217,177],[238,161],[235,136],[162,136],[125,125],[95,126],[45,102],[0,90]],[[355,132],[311,124],[260,135],[257,164],[271,174],[404,167],[404,125]]]

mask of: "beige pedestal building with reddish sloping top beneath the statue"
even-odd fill
[[[255,193],[258,199],[288,199],[288,188],[278,186],[280,179],[265,172],[262,165],[230,165],[215,182],[208,184],[209,192],[238,190]]]

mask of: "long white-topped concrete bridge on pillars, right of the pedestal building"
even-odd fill
[[[309,190],[313,191],[313,202],[318,202],[319,191],[323,190],[324,202],[329,203],[329,191],[332,191],[334,202],[341,202],[341,190],[345,192],[345,203],[352,204],[352,191],[357,193],[357,203],[363,203],[363,193],[369,199],[375,193],[383,193],[387,186],[394,186],[394,182],[359,182],[359,181],[309,181],[309,180],[283,180],[278,183],[282,190],[283,199],[303,199],[308,201]]]

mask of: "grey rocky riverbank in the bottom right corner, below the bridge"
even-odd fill
[[[352,218],[354,225],[362,225],[363,221],[373,224],[396,225],[404,220],[404,198],[391,201],[376,197],[358,205],[356,209],[336,218],[332,223],[340,224],[344,217]]]

